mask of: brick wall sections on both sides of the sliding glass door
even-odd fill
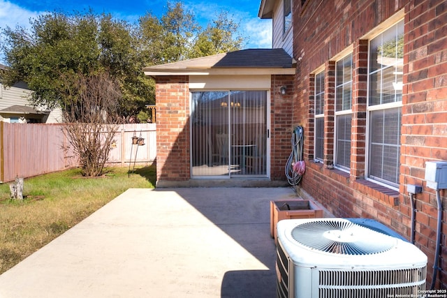
[[[270,93],[270,177],[285,181],[284,166],[291,154],[293,124],[293,75],[272,75]],[[280,87],[287,94],[281,95]],[[189,163],[189,84],[186,76],[156,79],[157,181],[191,178]]]

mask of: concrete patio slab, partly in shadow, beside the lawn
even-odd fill
[[[292,188],[129,189],[0,276],[0,297],[275,297],[270,200]]]

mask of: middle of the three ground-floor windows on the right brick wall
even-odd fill
[[[352,54],[335,63],[335,165],[351,167]]]

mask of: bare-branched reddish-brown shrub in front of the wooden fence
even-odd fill
[[[100,176],[108,160],[119,115],[121,91],[108,73],[62,75],[66,80],[64,133],[79,158],[82,175]],[[75,82],[75,84],[72,84]]]

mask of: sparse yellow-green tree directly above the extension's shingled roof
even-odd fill
[[[182,3],[169,3],[158,19],[151,13],[140,17],[140,42],[145,66],[240,50],[244,38],[239,24],[222,12],[202,29]]]

